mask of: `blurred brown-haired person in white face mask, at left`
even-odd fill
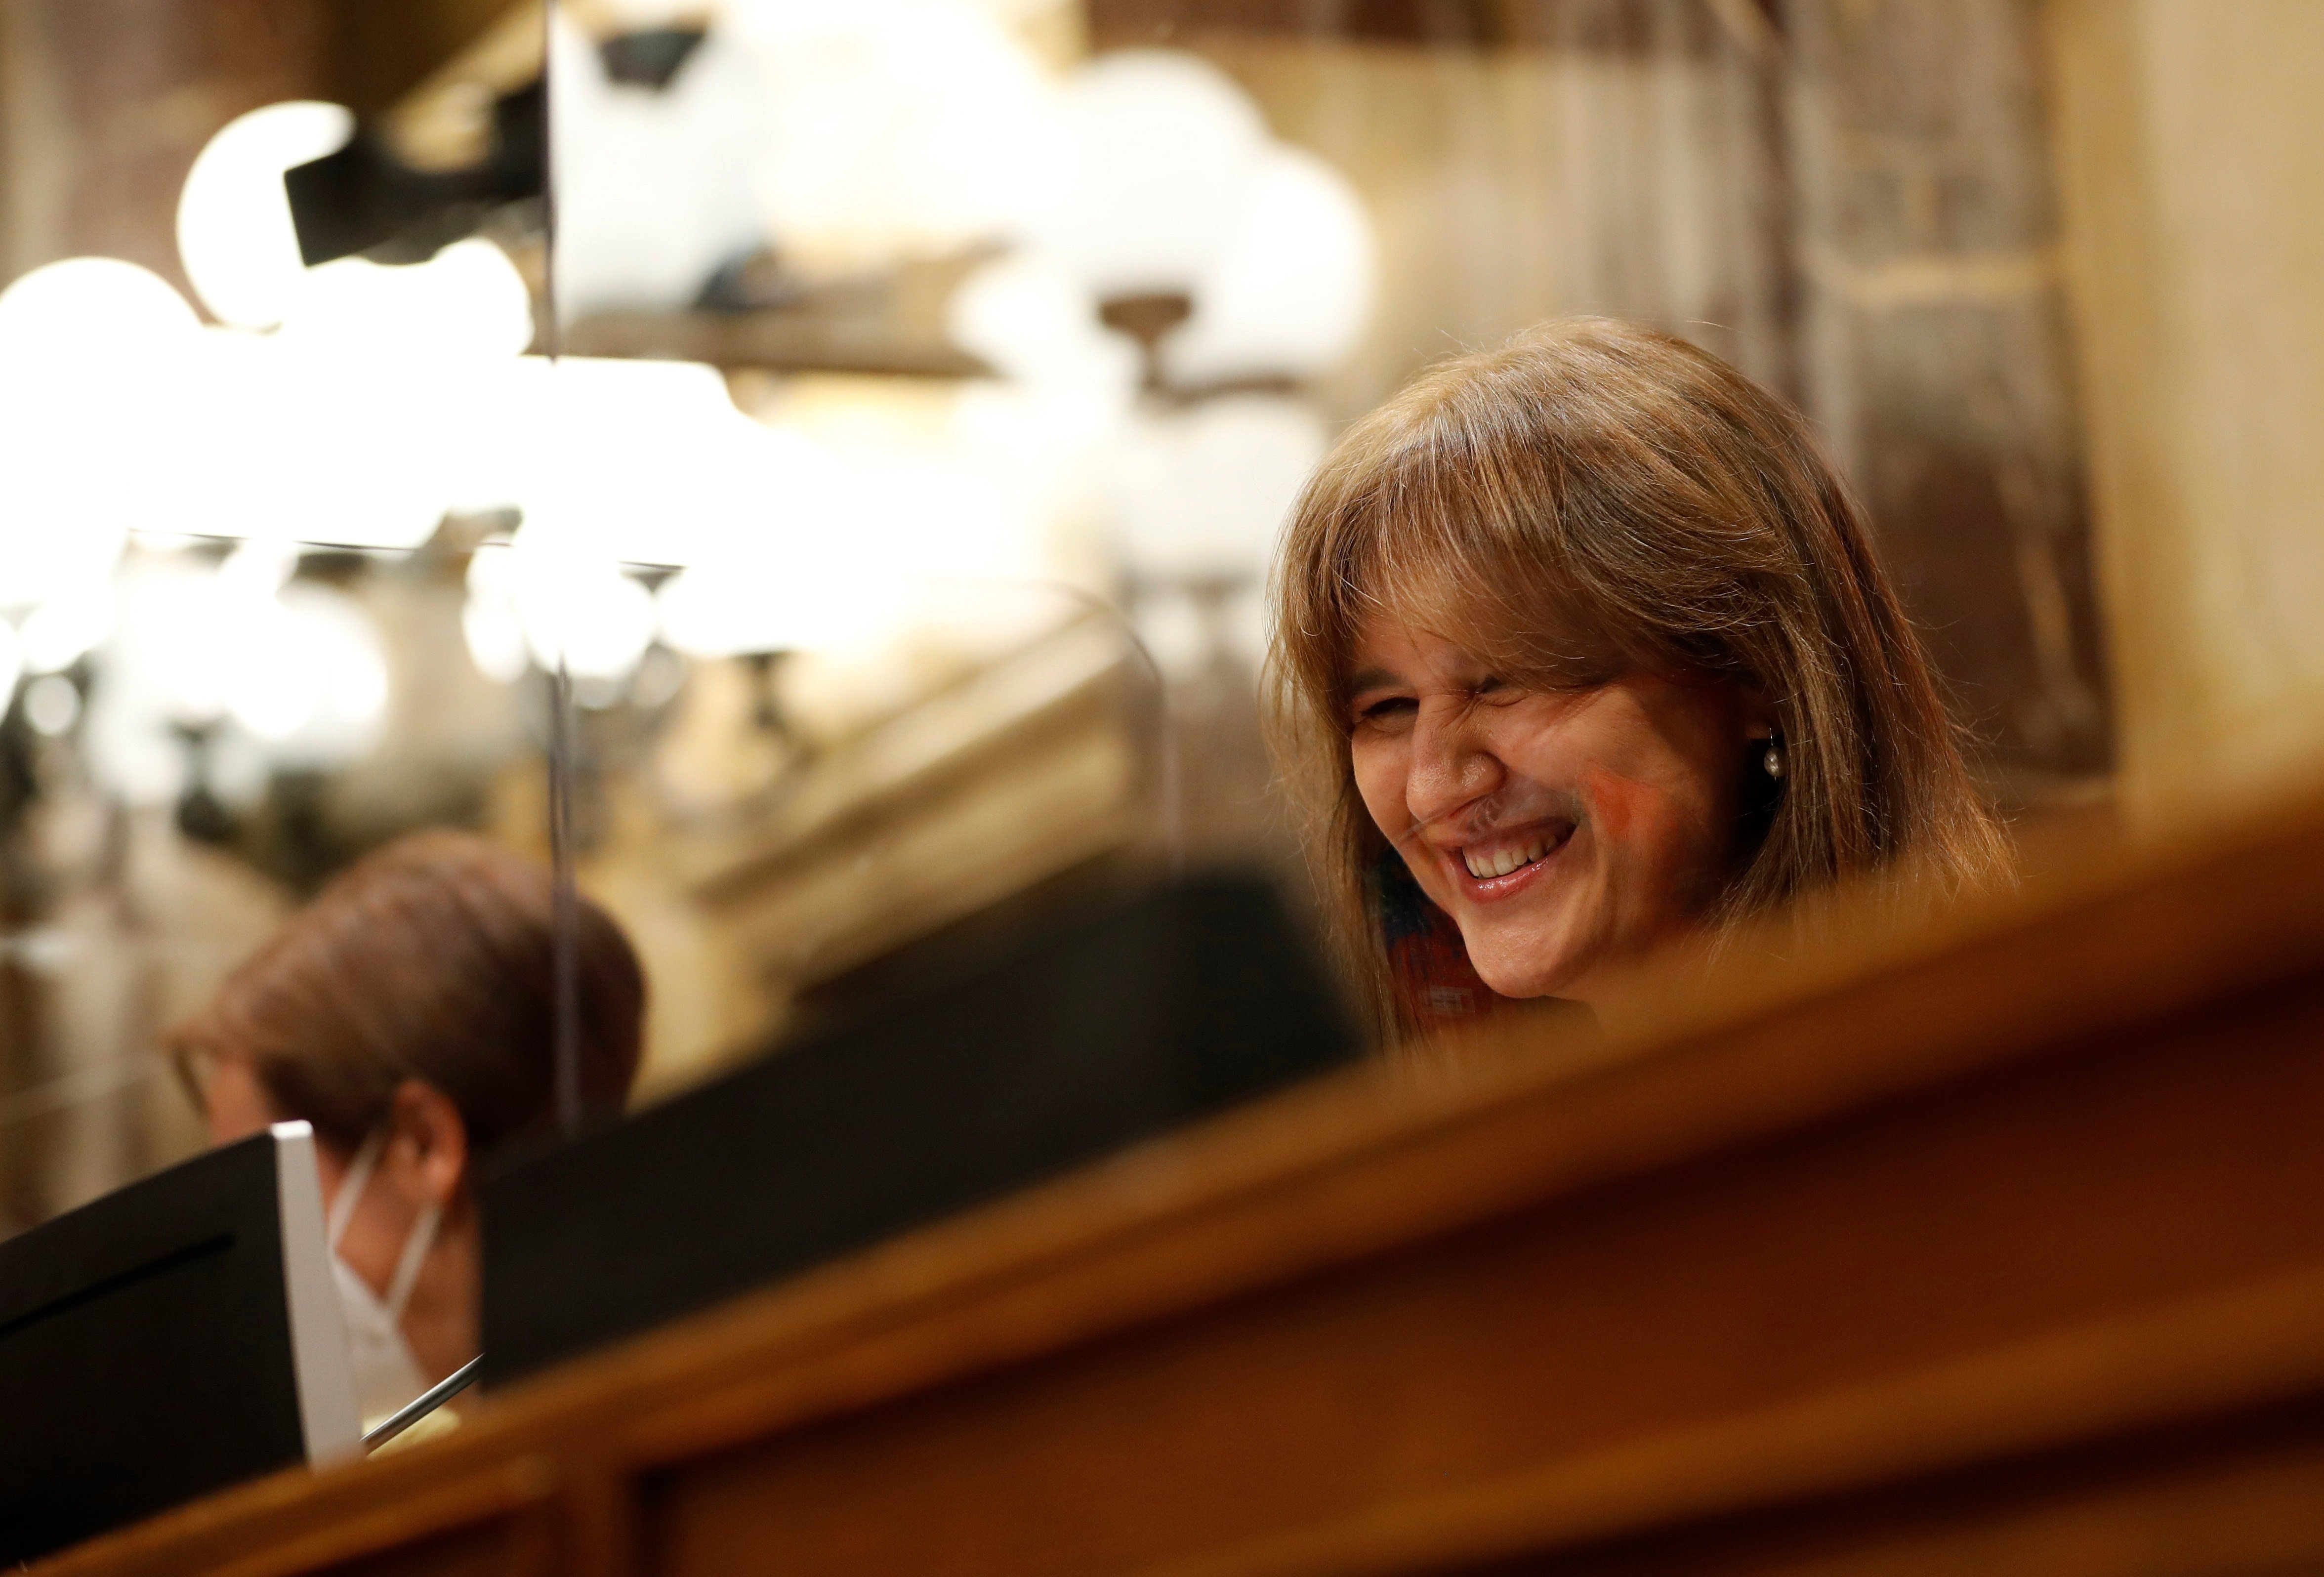
[[[621,927],[576,903],[579,1094],[614,1115],[646,985]],[[365,1428],[476,1356],[479,1166],[555,1131],[548,871],[421,831],[339,873],[170,1054],[225,1145],[314,1124]]]

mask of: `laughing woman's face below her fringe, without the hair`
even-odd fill
[[[1364,808],[1501,996],[1587,1001],[1608,964],[1717,896],[1750,741],[1771,734],[1741,685],[1624,674],[1525,690],[1385,615],[1353,667]]]

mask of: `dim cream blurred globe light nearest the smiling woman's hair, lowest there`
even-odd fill
[[[1157,581],[1255,581],[1308,471],[1322,418],[1287,395],[1222,395],[1143,416],[1116,469],[1122,557]]]

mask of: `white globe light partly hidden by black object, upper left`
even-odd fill
[[[284,321],[307,262],[284,172],[337,153],[353,111],[293,100],[228,121],[193,160],[177,200],[177,255],[218,323],[263,330]]]

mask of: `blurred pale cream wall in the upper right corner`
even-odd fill
[[[2043,21],[2119,797],[2168,824],[2324,736],[2324,7]]]

